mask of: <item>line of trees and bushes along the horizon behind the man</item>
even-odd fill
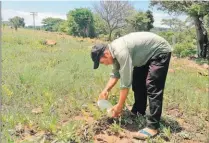
[[[174,45],[174,53],[179,57],[208,57],[209,2],[207,1],[151,1],[151,7],[175,15],[188,16],[185,20],[178,18],[163,19],[162,24],[169,28],[153,26],[151,10],[146,12],[134,9],[127,1],[100,1],[93,9],[77,8],[67,13],[67,20],[45,18],[42,29],[51,32],[63,32],[78,37],[112,40],[130,32],[152,31],[162,35]],[[24,19],[14,17],[4,22],[16,30],[24,27]],[[33,28],[29,26],[27,28]]]

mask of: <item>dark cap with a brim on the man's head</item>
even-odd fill
[[[96,44],[92,47],[91,58],[94,62],[94,69],[97,69],[99,67],[100,58],[101,56],[103,56],[106,47],[107,45],[105,44]]]

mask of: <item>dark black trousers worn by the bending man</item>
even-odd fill
[[[146,65],[134,67],[132,90],[135,103],[133,113],[145,115],[147,97],[149,100],[149,112],[147,115],[147,127],[159,128],[162,113],[163,91],[168,72],[171,53],[163,53],[153,56]]]

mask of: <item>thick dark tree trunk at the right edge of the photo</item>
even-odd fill
[[[200,16],[194,17],[196,34],[197,34],[197,51],[198,51],[198,57],[206,58],[208,56],[208,49],[209,49],[208,35],[200,18],[201,18]]]

